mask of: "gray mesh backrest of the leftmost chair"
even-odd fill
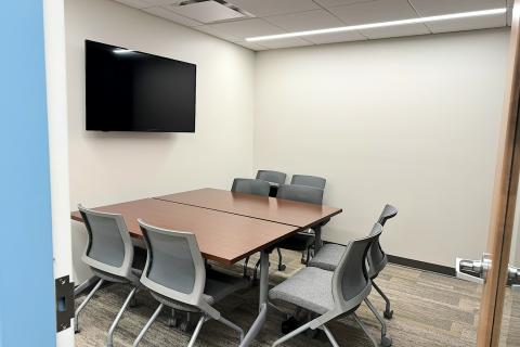
[[[121,215],[78,205],[88,232],[82,260],[90,267],[128,278],[133,261],[133,245]]]

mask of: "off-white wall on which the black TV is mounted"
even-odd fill
[[[200,187],[227,188],[251,176],[255,53],[107,0],[67,0],[70,208]],[[195,133],[84,130],[84,40],[197,64]],[[73,222],[75,281],[84,228]]]

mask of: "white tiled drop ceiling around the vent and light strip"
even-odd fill
[[[251,36],[512,7],[511,0],[226,0],[255,17],[205,24],[177,10],[174,4],[180,0],[115,1],[252,50],[503,27],[510,25],[510,9],[509,13],[498,16],[315,35],[280,41],[245,40]]]

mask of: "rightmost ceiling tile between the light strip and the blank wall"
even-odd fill
[[[425,23],[432,33],[476,30],[506,26],[506,13],[482,17]]]

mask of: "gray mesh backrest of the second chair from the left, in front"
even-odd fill
[[[172,300],[199,306],[206,268],[195,235],[138,221],[147,249],[141,283]]]

